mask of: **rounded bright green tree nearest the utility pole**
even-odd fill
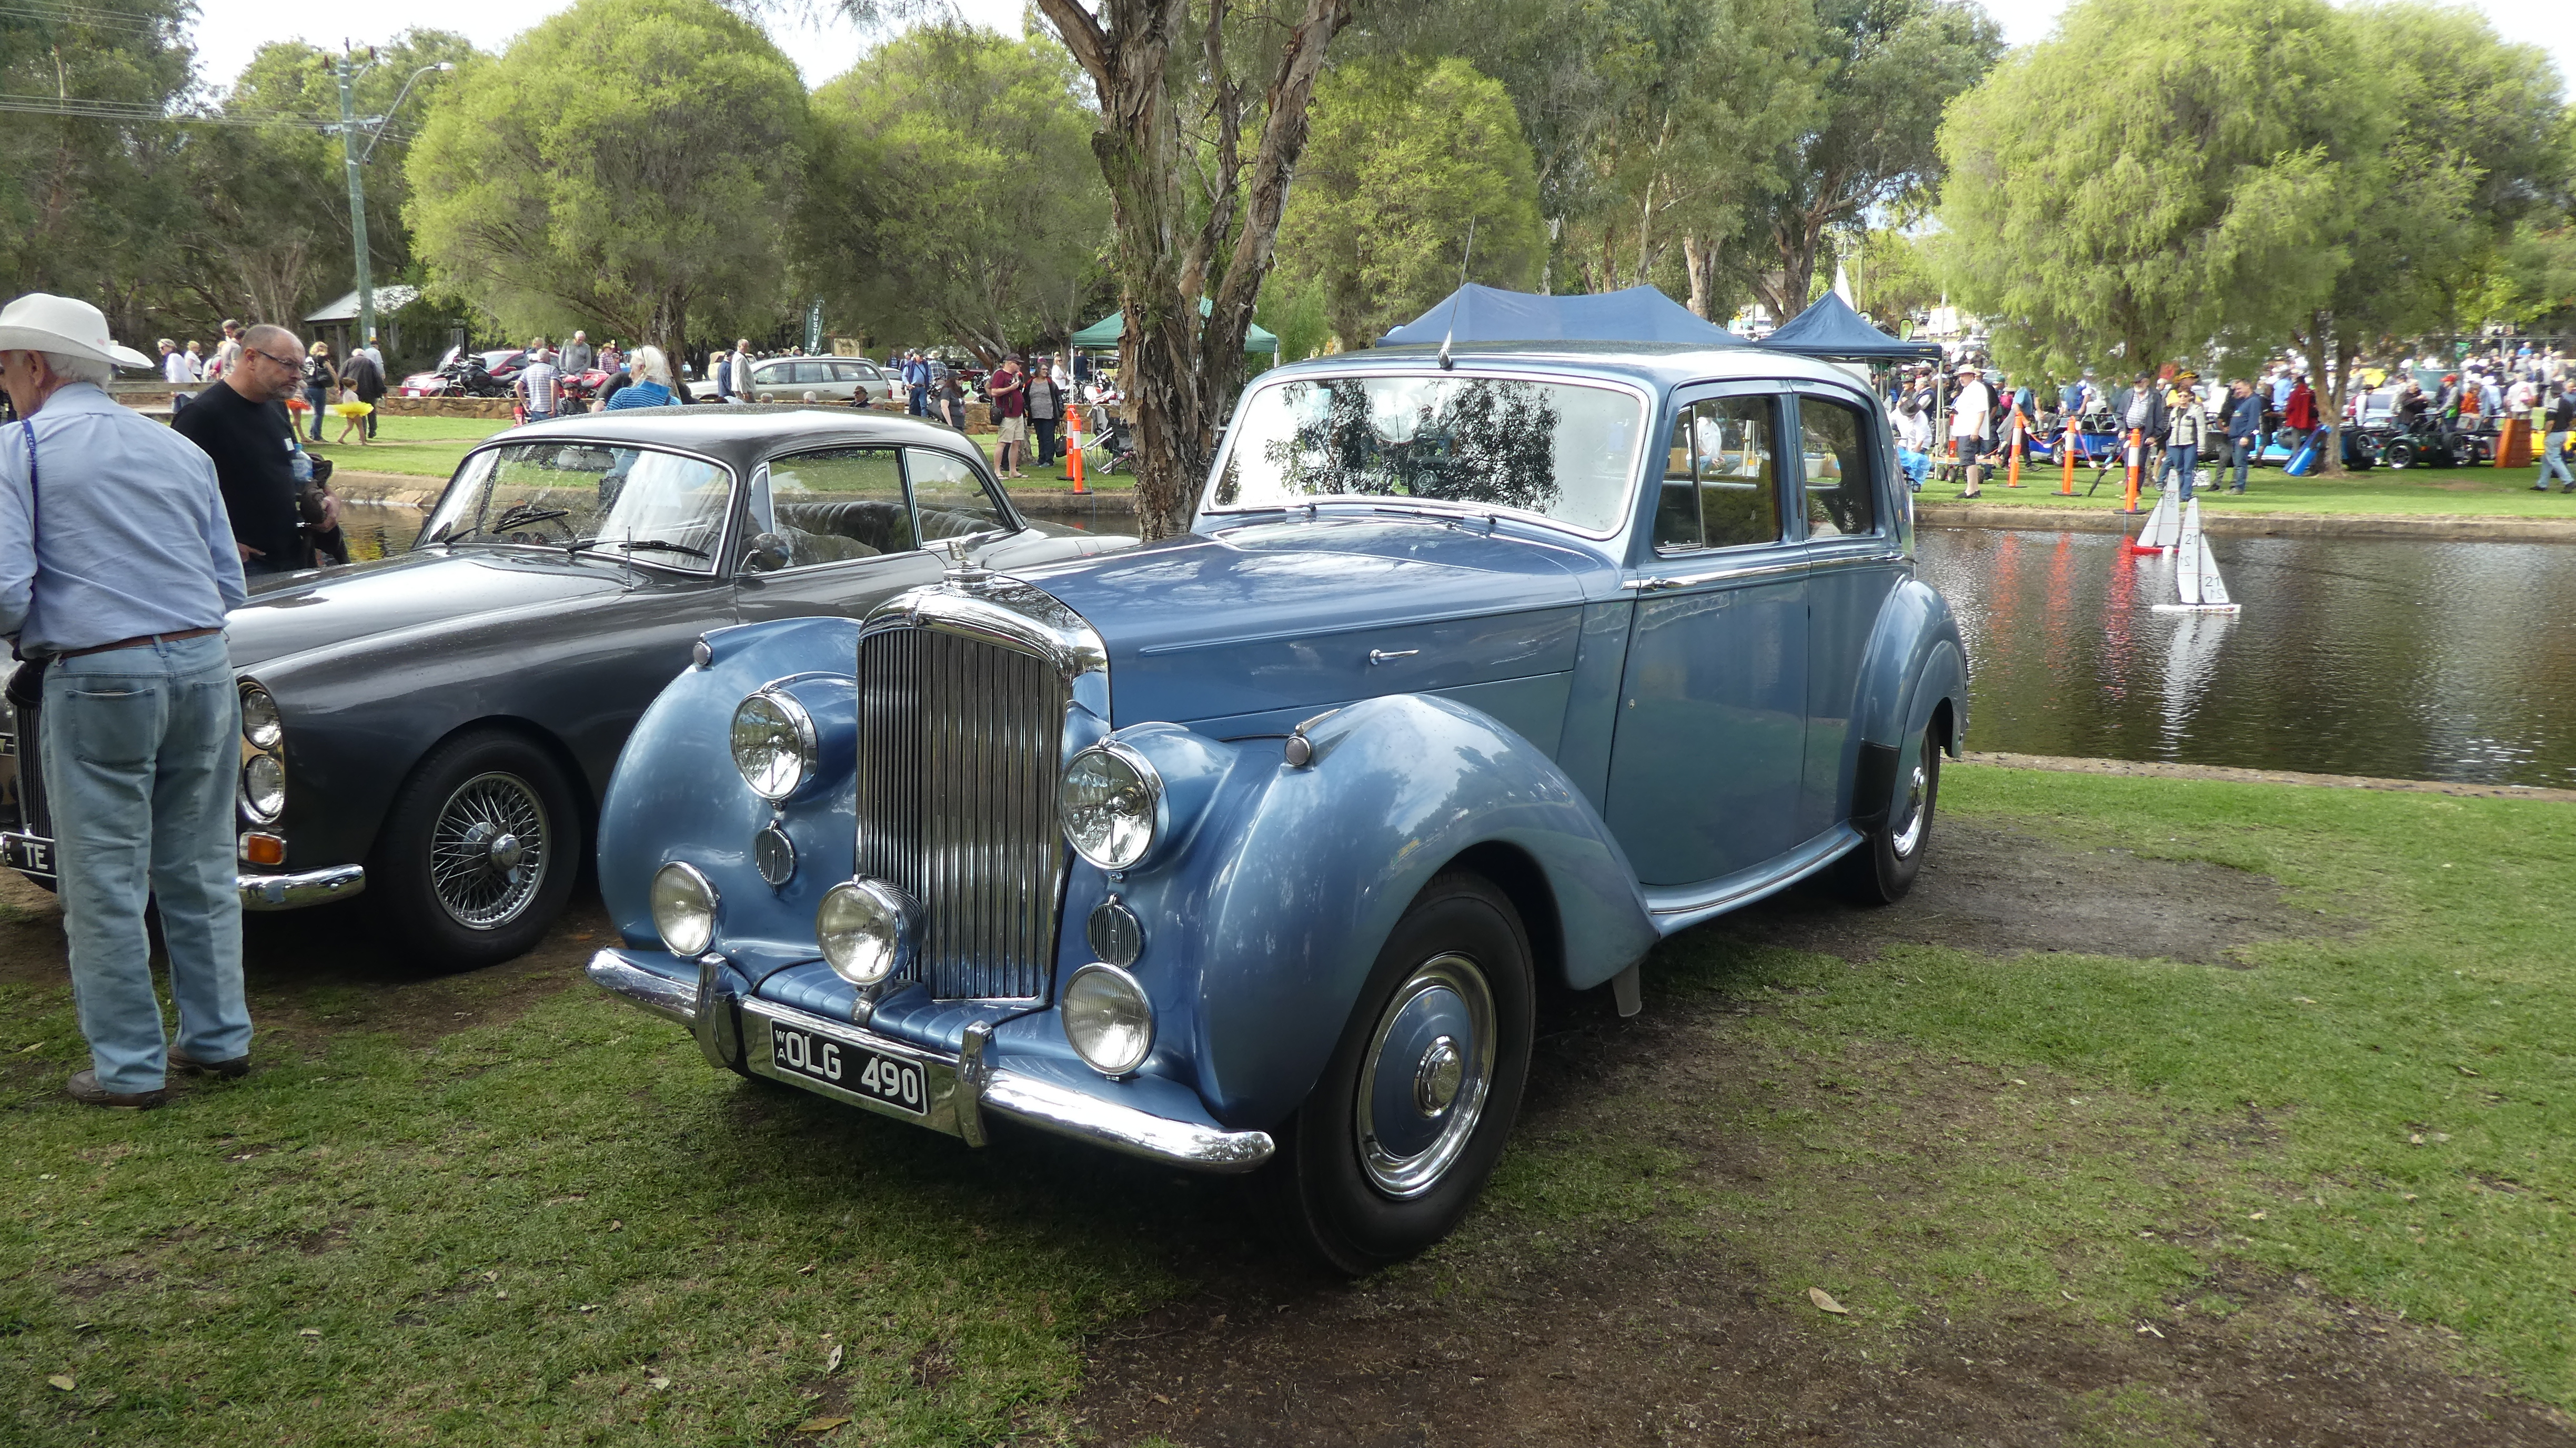
[[[582,0],[446,88],[404,214],[433,281],[513,332],[765,332],[804,152],[804,85],[757,26]]]

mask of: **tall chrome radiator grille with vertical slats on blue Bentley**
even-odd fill
[[[922,910],[940,1000],[1038,1000],[1054,976],[1066,691],[1046,660],[938,629],[858,644],[858,873]]]

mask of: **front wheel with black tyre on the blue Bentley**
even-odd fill
[[[1458,1226],[1520,1116],[1533,989],[1492,881],[1450,871],[1414,897],[1280,1134],[1273,1190],[1296,1237],[1360,1275]]]

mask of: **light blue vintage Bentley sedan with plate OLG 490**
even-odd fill
[[[752,492],[829,526],[850,466]],[[1262,1170],[1370,1270],[1492,1172],[1543,982],[1633,1013],[1674,930],[1906,891],[1968,724],[1911,551],[1824,363],[1285,366],[1185,536],[706,634],[608,788],[590,979],[969,1144]]]

